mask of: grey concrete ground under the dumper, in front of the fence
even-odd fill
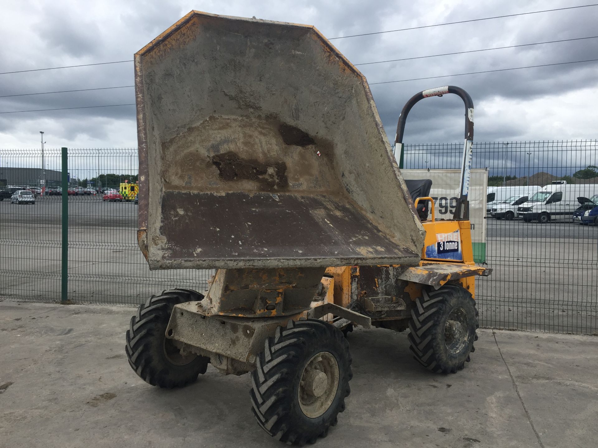
[[[185,389],[139,379],[124,354],[132,308],[0,302],[0,446],[277,447],[247,375]],[[480,330],[472,362],[434,375],[405,333],[355,330],[347,409],[316,446],[595,447],[598,339]]]

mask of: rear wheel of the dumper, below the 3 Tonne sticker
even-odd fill
[[[456,373],[469,362],[478,339],[475,300],[462,286],[425,291],[411,309],[408,339],[414,358],[435,373]]]

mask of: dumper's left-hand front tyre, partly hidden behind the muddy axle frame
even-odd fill
[[[139,305],[126,334],[126,352],[135,373],[148,384],[161,388],[182,387],[206,373],[209,358],[181,355],[166,337],[170,314],[178,303],[202,300],[200,293],[175,289],[151,296]]]

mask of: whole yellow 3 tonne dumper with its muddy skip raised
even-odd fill
[[[139,306],[133,370],[185,386],[208,364],[251,375],[258,425],[289,444],[337,424],[343,333],[409,330],[433,372],[462,369],[477,311],[468,221],[473,103],[459,204],[436,220],[429,180],[405,181],[363,75],[313,26],[191,11],[135,54],[138,242],[151,269],[217,269],[208,291]],[[431,213],[429,213],[431,212]]]

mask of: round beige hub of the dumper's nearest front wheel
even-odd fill
[[[319,352],[307,361],[301,373],[298,398],[301,411],[309,418],[324,414],[338,389],[338,363],[329,352]]]

